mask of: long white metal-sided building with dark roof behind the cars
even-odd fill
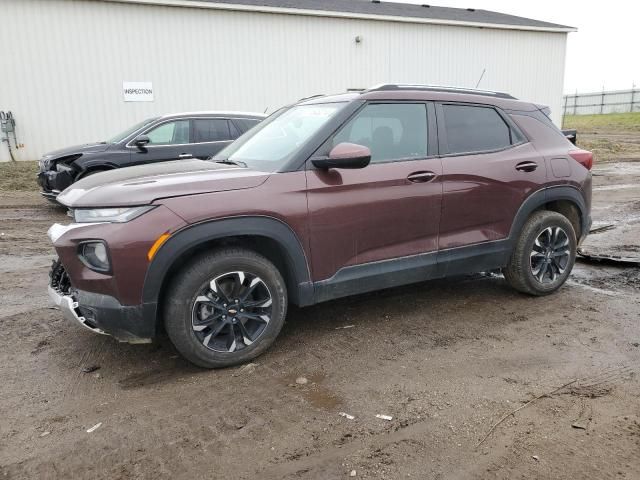
[[[156,114],[271,112],[387,82],[480,80],[549,105],[559,123],[574,31],[368,0],[3,0],[0,17],[0,111],[13,112],[23,160]],[[127,100],[152,101],[125,101],[125,87],[143,87]]]

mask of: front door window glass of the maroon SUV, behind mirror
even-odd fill
[[[427,107],[423,103],[367,105],[333,138],[333,146],[356,143],[371,149],[372,162],[427,156]]]

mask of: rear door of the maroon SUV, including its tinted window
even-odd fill
[[[546,181],[544,160],[495,107],[443,103],[436,110],[443,184],[440,250],[506,238],[524,199]]]

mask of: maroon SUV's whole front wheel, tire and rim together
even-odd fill
[[[200,255],[166,291],[167,334],[182,356],[204,368],[229,367],[262,354],[280,333],[287,312],[282,275],[251,250]]]

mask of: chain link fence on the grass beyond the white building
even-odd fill
[[[564,96],[564,115],[627,112],[640,112],[640,90],[612,90]]]

